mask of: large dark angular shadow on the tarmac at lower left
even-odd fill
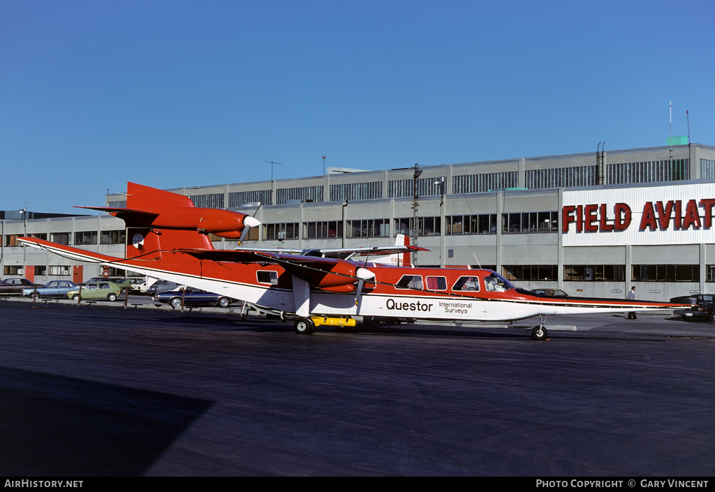
[[[140,476],[208,400],[0,367],[0,475]]]

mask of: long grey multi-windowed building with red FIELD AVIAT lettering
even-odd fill
[[[417,243],[430,250],[417,255],[420,266],[485,267],[527,289],[593,297],[623,298],[631,285],[644,300],[715,291],[715,147],[703,144],[382,171],[329,168],[323,176],[169,191],[197,207],[255,215],[262,226],[245,246],[390,245],[398,233],[410,234],[417,217]],[[125,195],[107,195],[107,206],[125,204]],[[19,247],[16,237],[118,257],[127,241],[124,222],[110,215],[10,218],[1,227],[3,278],[35,282],[83,281],[102,271]],[[237,245],[212,240],[217,248]]]

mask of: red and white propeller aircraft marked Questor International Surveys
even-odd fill
[[[538,315],[541,322],[532,336],[543,340],[548,336],[543,325],[546,315],[682,307],[664,302],[540,296],[514,287],[492,270],[413,267],[409,253],[423,248],[410,245],[301,252],[246,247],[215,250],[209,232],[243,240],[250,227],[260,222],[240,212],[197,208],[183,195],[131,182],[127,184],[126,208],[83,208],[109,212],[126,222],[127,257],[31,237],[19,241],[73,260],[132,270],[245,300],[281,316],[297,315],[297,333],[312,333],[317,325],[355,326],[355,316],[514,321]],[[370,255],[372,262],[368,261]],[[357,256],[365,259],[355,260]]]

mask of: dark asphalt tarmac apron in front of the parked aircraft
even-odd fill
[[[140,300],[0,301],[0,474],[715,473],[710,323],[553,316],[548,342],[536,320],[297,335],[240,307]]]

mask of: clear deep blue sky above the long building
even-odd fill
[[[715,145],[715,2],[0,0],[0,210]]]

